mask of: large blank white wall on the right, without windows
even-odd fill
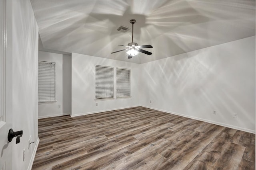
[[[255,133],[255,36],[144,63],[140,72],[142,106]]]

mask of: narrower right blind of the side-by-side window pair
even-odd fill
[[[131,96],[130,69],[116,68],[116,97]]]

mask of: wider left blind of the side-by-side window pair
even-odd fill
[[[114,67],[96,65],[95,98],[114,98]]]

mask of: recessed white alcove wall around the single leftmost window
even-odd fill
[[[71,56],[39,51],[39,61],[54,62],[56,103],[39,104],[39,118],[67,115],[71,112]],[[58,108],[60,105],[60,108]]]

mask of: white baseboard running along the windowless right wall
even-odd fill
[[[237,130],[240,130],[240,131],[245,131],[245,132],[249,132],[249,133],[254,133],[255,134],[255,131],[251,130],[251,129],[246,129],[246,128],[242,128],[242,127],[228,125],[228,124],[225,124],[225,123],[220,123],[220,122],[211,121],[211,120],[207,120],[207,119],[201,119],[199,117],[184,115],[184,114],[175,113],[175,112],[172,112],[172,111],[167,111],[167,110],[163,110],[163,109],[157,109],[157,108],[154,108],[154,107],[148,107],[148,106],[142,106],[142,107],[146,107],[146,108],[154,109],[154,110],[158,110],[158,111],[163,111],[163,112],[166,112],[166,113],[170,113],[170,114],[174,114],[174,115],[178,115],[178,116],[182,116],[182,117],[188,117],[188,118],[191,118],[191,119],[200,120],[200,121],[204,121],[204,122],[207,122],[207,123],[212,123],[214,125],[220,125],[220,126],[228,127],[228,128],[231,128],[231,129],[237,129]]]

